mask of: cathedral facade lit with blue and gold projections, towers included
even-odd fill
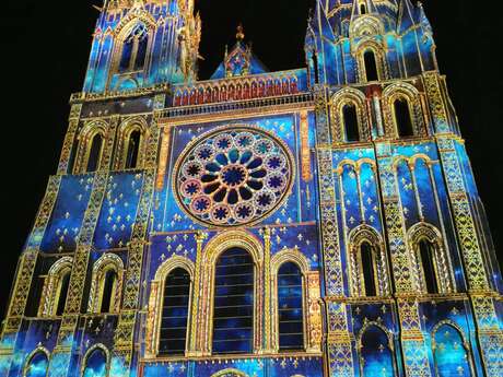
[[[306,68],[197,79],[192,0],[107,0],[0,341],[9,377],[503,376],[432,30],[317,1]]]

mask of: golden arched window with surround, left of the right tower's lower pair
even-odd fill
[[[386,248],[377,231],[365,224],[355,227],[348,236],[348,249],[351,294],[359,297],[389,295],[390,275]],[[374,287],[374,292],[367,292],[370,286]]]

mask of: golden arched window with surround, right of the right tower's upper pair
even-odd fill
[[[400,110],[398,114],[397,104],[400,104],[400,108],[403,107],[407,111]],[[407,107],[405,107],[406,105]],[[387,137],[426,136],[421,94],[413,85],[399,82],[387,86],[383,91],[383,113]],[[410,119],[405,119],[406,116]],[[410,125],[405,123],[409,120]]]

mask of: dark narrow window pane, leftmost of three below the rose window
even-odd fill
[[[189,301],[190,275],[185,269],[176,268],[164,282],[159,354],[185,354]]]

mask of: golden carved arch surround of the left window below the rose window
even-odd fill
[[[148,313],[148,327],[147,327],[147,337],[145,337],[145,345],[147,345],[147,356],[154,357],[160,353],[160,335],[161,335],[161,326],[162,326],[162,318],[163,318],[163,307],[165,302],[165,285],[166,279],[168,275],[177,270],[184,270],[188,273],[190,279],[190,287],[189,287],[189,297],[194,294],[192,293],[192,284],[194,284],[194,276],[195,276],[195,269],[194,262],[185,257],[180,256],[172,256],[171,258],[166,259],[155,272],[154,280],[150,283],[150,298],[149,298],[149,313]],[[191,322],[192,313],[190,311],[191,299],[188,303],[188,313],[187,313],[187,333],[189,330],[189,323]],[[187,337],[188,338],[188,337]]]

